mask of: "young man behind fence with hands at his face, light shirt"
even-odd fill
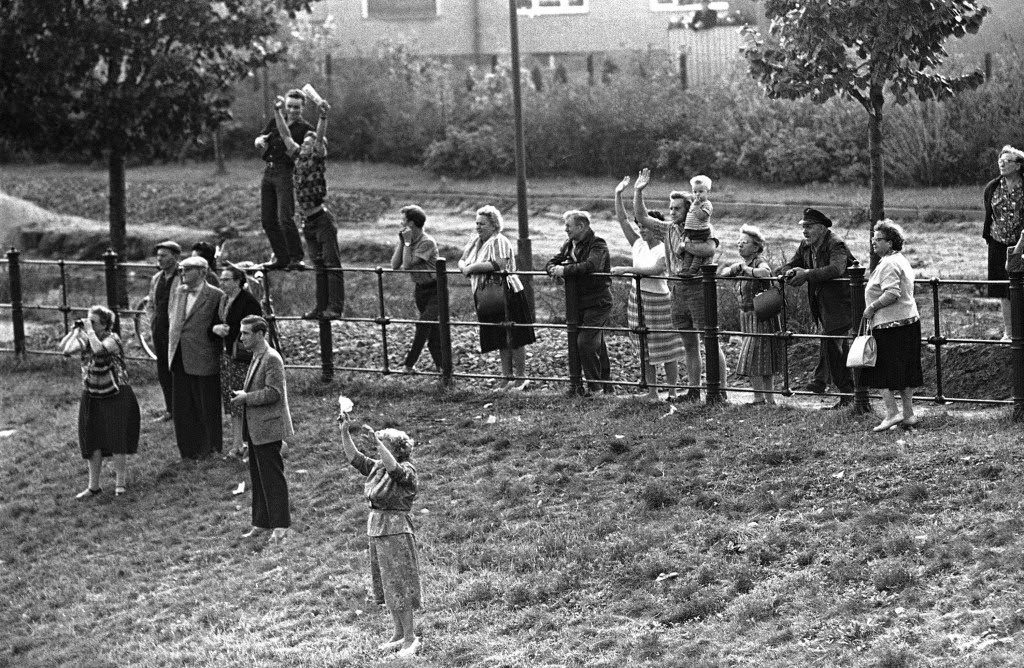
[[[427,214],[415,204],[401,207],[401,231],[398,233],[398,245],[391,255],[392,269],[437,269],[437,242],[433,237],[423,232],[427,223]],[[413,298],[416,309],[420,311],[420,322],[416,324],[416,334],[413,344],[406,356],[402,365],[403,373],[416,371],[416,361],[420,359],[423,344],[427,344],[434,367],[441,369],[441,333],[437,324],[437,276],[425,272],[410,274],[416,286]]]

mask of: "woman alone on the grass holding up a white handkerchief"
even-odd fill
[[[370,502],[367,536],[374,599],[379,606],[387,606],[394,621],[391,639],[380,649],[397,650],[399,657],[411,657],[420,650],[413,621],[414,612],[421,604],[420,566],[416,534],[409,516],[417,491],[416,467],[412,462],[416,443],[404,431],[391,428],[374,431],[364,424],[377,448],[379,459],[372,459],[356,450],[347,411],[338,415],[338,422],[345,456],[367,478],[364,494]]]

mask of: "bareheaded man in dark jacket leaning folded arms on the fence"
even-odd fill
[[[577,280],[580,327],[577,347],[580,350],[580,366],[587,380],[591,381],[590,391],[599,389],[611,394],[611,385],[594,382],[611,379],[611,365],[608,348],[604,343],[604,332],[611,317],[611,278],[594,276],[611,270],[608,245],[590,228],[590,213],[573,209],[562,214],[565,236],[568,241],[558,254],[548,260],[544,270],[552,277],[574,277]]]

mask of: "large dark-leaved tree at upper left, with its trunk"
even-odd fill
[[[126,157],[166,155],[228,120],[229,85],[284,51],[282,10],[312,1],[0,0],[0,137],[105,158],[123,254]]]

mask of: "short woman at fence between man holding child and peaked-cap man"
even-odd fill
[[[754,311],[754,297],[771,287],[771,277],[775,275],[771,265],[761,256],[765,249],[765,238],[754,225],[739,228],[736,250],[740,260],[723,265],[721,276],[745,276],[761,281],[736,281],[739,299],[739,329],[744,334],[773,334],[782,328],[776,316],[770,320],[758,320]],[[781,339],[766,336],[744,336],[739,346],[739,361],[736,373],[746,376],[754,388],[755,405],[775,405],[775,374],[782,371],[785,347]]]

